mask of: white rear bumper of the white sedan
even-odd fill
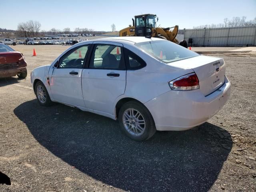
[[[208,96],[200,90],[170,90],[148,102],[145,106],[151,112],[156,130],[188,130],[206,122],[214,116],[230,97],[230,81]]]

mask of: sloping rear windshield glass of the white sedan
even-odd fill
[[[199,54],[167,40],[142,42],[135,45],[164,63],[199,56]]]

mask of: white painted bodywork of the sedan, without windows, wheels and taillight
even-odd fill
[[[230,82],[225,75],[222,58],[196,56],[189,59],[164,63],[140,50],[134,43],[161,40],[144,37],[104,38],[80,42],[63,52],[51,66],[36,68],[31,73],[31,82],[41,80],[52,101],[81,110],[116,119],[116,104],[122,98],[134,98],[144,104],[152,114],[157,130],[186,130],[200,125],[212,117],[230,96]],[[139,70],[72,69],[79,72],[74,83],[70,83],[69,71],[54,73],[59,58],[76,46],[93,43],[122,44],[147,65]],[[213,65],[216,62],[219,64]],[[217,72],[216,68],[220,68]],[[108,73],[120,76],[109,77]],[[196,72],[200,88],[192,91],[171,90],[168,82],[185,74]],[[52,78],[58,75],[57,81]],[[216,81],[216,76],[221,78]],[[46,82],[50,79],[50,86]],[[216,82],[215,82],[216,81]],[[215,83],[214,83],[215,82]],[[52,88],[52,90],[51,90]]]

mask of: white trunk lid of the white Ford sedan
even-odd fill
[[[225,81],[226,65],[223,58],[210,56],[198,56],[177,62],[172,62],[169,65],[192,68],[199,80],[199,88],[204,96],[207,96],[220,88]]]

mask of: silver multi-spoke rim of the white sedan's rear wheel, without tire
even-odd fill
[[[138,110],[127,109],[123,114],[124,128],[132,135],[140,136],[144,133],[146,122]]]

